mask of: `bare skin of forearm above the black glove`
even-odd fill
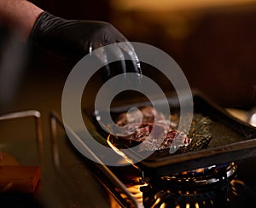
[[[26,0],[0,0],[0,21],[27,38],[43,9]]]

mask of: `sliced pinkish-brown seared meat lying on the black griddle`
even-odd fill
[[[140,111],[143,114],[142,123],[137,112],[119,115],[116,124],[125,126],[125,131],[130,134],[119,136],[118,143],[124,143],[128,147],[141,143],[140,151],[154,151],[171,147],[174,138],[178,146],[187,146],[191,142],[183,132],[173,130],[172,123],[169,125],[170,122],[162,113],[155,111],[154,107],[142,107]]]

